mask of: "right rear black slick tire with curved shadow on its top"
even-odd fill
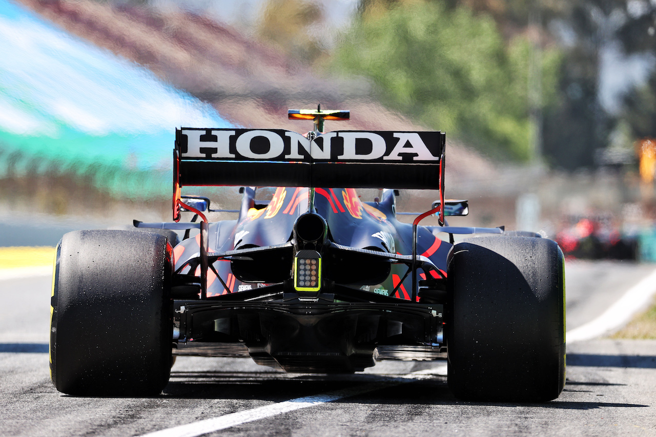
[[[448,383],[462,400],[546,402],[565,385],[564,257],[546,238],[458,243],[447,272]]]

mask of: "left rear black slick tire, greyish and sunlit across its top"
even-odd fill
[[[154,396],[171,372],[171,244],[121,230],[64,235],[51,298],[51,378],[77,396]]]

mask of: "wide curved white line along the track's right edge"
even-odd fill
[[[636,283],[598,318],[567,331],[567,343],[591,340],[625,325],[640,310],[649,305],[656,293],[656,270]]]

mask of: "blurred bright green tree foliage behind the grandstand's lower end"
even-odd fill
[[[367,0],[342,36],[333,70],[361,74],[387,106],[490,154],[527,159],[532,129],[527,83],[531,45],[504,41],[495,20],[468,7],[420,0]],[[552,102],[557,51],[545,51],[543,104]]]

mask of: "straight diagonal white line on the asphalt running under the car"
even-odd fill
[[[401,377],[395,377],[393,379],[389,379],[388,381],[369,383],[357,387],[349,387],[342,390],[333,390],[327,393],[316,394],[314,396],[296,398],[285,402],[277,402],[276,404],[271,404],[264,407],[247,409],[245,411],[238,411],[237,413],[230,413],[219,417],[214,417],[213,419],[205,419],[203,421],[189,423],[187,425],[180,425],[178,427],[150,432],[149,434],[144,434],[141,437],[201,436],[209,432],[236,427],[237,425],[242,425],[243,423],[266,419],[267,417],[289,413],[290,411],[295,411],[297,409],[314,407],[320,404],[325,404],[326,402],[334,402],[342,398],[349,398],[351,396],[357,396],[358,394],[365,394],[375,390],[381,390],[383,388],[401,385],[411,381],[417,381],[418,379],[427,379],[430,378],[431,375],[446,375],[446,364],[434,367],[432,369],[409,373]]]

